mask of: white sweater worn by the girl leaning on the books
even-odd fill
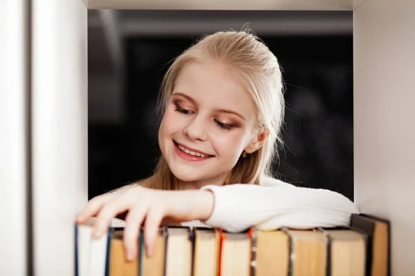
[[[315,228],[349,225],[359,213],[352,201],[331,190],[300,188],[272,177],[263,184],[208,185],[214,194],[212,215],[206,221],[187,221],[183,226],[208,226],[239,232],[250,226],[260,230],[281,227]],[[124,221],[113,220],[122,227]]]

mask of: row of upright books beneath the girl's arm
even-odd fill
[[[352,215],[350,227],[227,233],[216,228],[160,228],[148,257],[143,233],[128,262],[122,228],[92,239],[93,221],[75,229],[79,276],[389,275],[389,221]]]

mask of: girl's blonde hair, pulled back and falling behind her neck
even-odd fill
[[[280,128],[284,117],[284,95],[277,58],[258,37],[247,31],[230,30],[206,35],[178,56],[167,70],[158,99],[160,115],[165,112],[181,69],[191,61],[220,62],[255,103],[258,127],[268,132],[268,137],[259,150],[239,158],[225,184],[260,184],[263,175],[272,175],[273,159],[278,157],[278,146],[282,144]],[[180,190],[183,183],[173,175],[162,155],[151,181],[144,186]]]

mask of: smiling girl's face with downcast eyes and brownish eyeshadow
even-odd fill
[[[256,123],[248,92],[220,63],[187,63],[167,104],[158,144],[178,179],[196,187],[221,185],[241,152],[256,149]]]

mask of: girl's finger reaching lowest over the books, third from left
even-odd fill
[[[124,247],[127,259],[132,261],[137,256],[138,251],[138,235],[140,226],[147,212],[147,204],[138,204],[129,210],[125,219],[124,227]]]

